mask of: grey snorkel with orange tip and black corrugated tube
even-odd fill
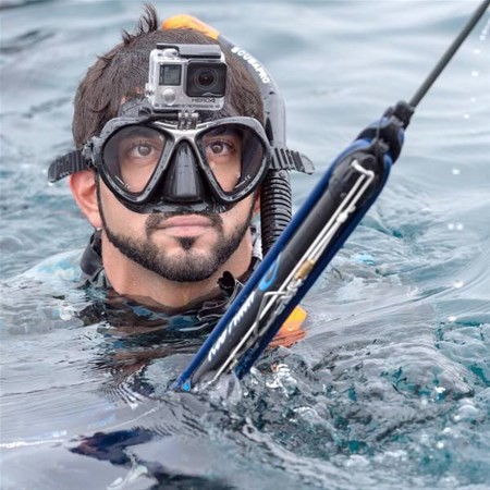
[[[249,52],[234,45],[217,29],[191,15],[175,15],[163,21],[163,29],[191,28],[218,40],[250,73],[264,102],[266,134],[271,147],[269,170],[260,186],[260,229],[262,254],[272,247],[292,218],[292,191],[289,171],[313,173],[311,161],[292,151],[285,144],[286,118],[284,100],[272,76]]]

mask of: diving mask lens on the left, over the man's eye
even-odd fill
[[[142,193],[161,159],[167,139],[152,127],[122,127],[103,147],[102,160],[107,171],[124,191]]]

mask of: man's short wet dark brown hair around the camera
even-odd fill
[[[157,42],[219,44],[192,29],[162,30],[154,5],[147,3],[133,34],[122,33],[122,42],[91,65],[76,91],[73,138],[77,148],[98,135],[118,115],[122,101],[142,97],[148,79],[149,53]],[[260,91],[246,69],[221,46],[226,58],[225,106],[220,117],[247,115],[264,123]]]

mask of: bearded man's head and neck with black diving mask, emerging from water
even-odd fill
[[[270,148],[260,90],[230,51],[221,109],[155,111],[145,84],[157,44],[217,41],[163,30],[147,7],[135,34],[124,32],[78,86],[78,150],[54,161],[50,177],[71,174],[72,194],[96,229],[81,264],[86,281],[185,309],[219,295],[225,271],[243,282],[257,262],[252,220]]]

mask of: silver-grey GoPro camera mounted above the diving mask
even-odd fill
[[[224,106],[226,63],[218,45],[157,44],[145,95],[157,111],[218,111]]]

